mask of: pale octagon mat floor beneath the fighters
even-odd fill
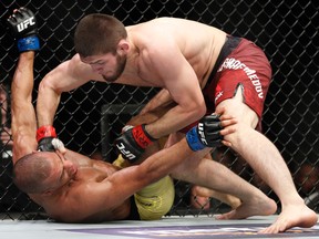
[[[277,218],[250,217],[245,220],[216,220],[207,216],[164,217],[156,221],[109,221],[105,224],[56,224],[49,220],[2,220],[2,239],[61,238],[319,238],[319,224],[312,228],[291,228],[278,235],[260,235]]]

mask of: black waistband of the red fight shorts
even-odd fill
[[[209,74],[208,81],[207,81],[205,87],[203,89],[203,91],[206,87],[208,87],[208,85],[213,81],[217,70],[222,65],[222,63],[225,61],[227,55],[229,55],[238,46],[238,44],[240,43],[241,40],[243,40],[243,38],[233,37],[233,35],[226,35],[225,43],[224,43],[224,45],[223,45],[223,48],[220,50],[220,53],[219,53],[219,55],[218,55],[218,58],[216,60],[214,69],[212,71],[212,73]]]

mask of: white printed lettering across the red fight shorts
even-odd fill
[[[239,60],[236,60],[234,58],[225,59],[225,61],[223,62],[223,64],[220,65],[217,72],[222,72],[225,69],[243,70],[245,74],[247,75],[247,77],[250,80],[251,84],[254,85],[258,94],[258,97],[264,98],[261,83],[254,69],[249,69],[246,64],[241,63]]]

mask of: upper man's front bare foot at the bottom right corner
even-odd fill
[[[269,227],[259,231],[259,233],[279,233],[292,227],[310,228],[318,221],[315,211],[305,204],[298,206],[290,205],[282,209],[277,220]]]

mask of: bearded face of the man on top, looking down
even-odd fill
[[[82,58],[82,62],[90,64],[93,72],[102,75],[106,82],[115,82],[126,65],[126,55],[107,53]]]

